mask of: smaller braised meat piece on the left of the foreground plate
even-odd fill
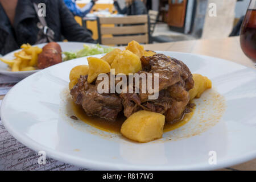
[[[71,89],[71,96],[77,105],[81,105],[87,115],[96,115],[109,121],[115,121],[122,110],[122,99],[115,94],[99,94],[97,84],[88,84],[88,76],[80,76]]]

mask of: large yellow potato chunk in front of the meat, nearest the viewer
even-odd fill
[[[123,122],[121,133],[137,142],[150,142],[162,137],[165,118],[160,113],[140,110]]]

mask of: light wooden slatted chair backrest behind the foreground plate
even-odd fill
[[[148,15],[125,17],[98,17],[98,42],[105,45],[123,45],[135,40],[138,43],[150,43],[150,20]],[[114,24],[114,27],[102,26]],[[113,35],[106,37],[104,35]]]

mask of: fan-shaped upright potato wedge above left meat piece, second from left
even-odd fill
[[[89,64],[89,73],[87,81],[89,84],[93,82],[101,73],[110,72],[110,65],[108,62],[96,57],[88,57],[87,60]]]

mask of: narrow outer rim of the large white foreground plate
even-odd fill
[[[210,57],[213,59],[218,59],[222,61],[228,61],[230,64],[236,64],[240,65],[243,68],[249,68],[253,71],[256,71],[253,68],[247,67],[246,65],[241,65],[238,63],[234,63],[233,61],[230,60],[225,60],[225,59],[220,59],[218,57],[212,57],[212,56],[206,56],[206,55],[199,55],[195,53],[185,53],[185,52],[174,52],[174,51],[156,51],[158,53],[178,53],[178,54],[185,54],[185,55],[196,55],[196,56],[203,56],[203,57]],[[99,55],[105,55],[105,54],[99,54]],[[95,55],[96,56],[96,55]],[[87,58],[89,56],[83,57]],[[81,58],[78,58],[81,59]],[[77,59],[73,59],[71,61],[75,61]],[[64,62],[63,62],[64,63]],[[60,64],[63,64],[60,63]],[[30,75],[28,77],[33,77],[36,76],[37,74],[40,74],[40,72],[47,71],[47,69],[52,69],[53,67],[57,67],[60,64],[53,65],[52,67],[40,70],[33,75]],[[28,78],[27,77],[27,78]],[[13,90],[16,86],[20,85],[23,83],[23,81],[26,81],[27,78],[24,78],[18,84],[14,85],[13,88],[10,89]],[[136,164],[112,164],[108,162],[97,162],[95,160],[90,160],[90,159],[82,159],[78,158],[76,156],[70,155],[70,154],[65,154],[64,152],[59,152],[56,150],[53,150],[47,146],[43,146],[42,144],[36,142],[35,140],[32,140],[31,138],[27,137],[26,135],[15,132],[14,129],[12,129],[11,125],[9,122],[6,121],[5,119],[5,114],[3,114],[3,109],[5,105],[7,105],[7,100],[9,98],[9,95],[11,92],[8,92],[6,96],[2,100],[1,108],[0,108],[0,117],[3,122],[3,125],[5,126],[6,130],[15,138],[17,139],[20,143],[24,144],[24,146],[31,148],[32,150],[38,152],[40,150],[44,150],[47,152],[47,156],[56,160],[59,160],[60,162],[65,162],[69,164],[74,164],[75,166],[78,167],[86,167],[88,169],[108,169],[108,170],[214,170],[214,169],[220,169],[224,167],[230,167],[234,166],[236,164],[240,164],[243,162],[247,162],[249,160],[252,160],[256,158],[256,149],[254,151],[246,152],[242,155],[239,156],[232,156],[232,158],[225,158],[222,160],[219,160],[217,165],[210,165],[210,164],[201,164],[201,163],[195,163],[195,164],[190,164],[189,166],[137,166]]]

